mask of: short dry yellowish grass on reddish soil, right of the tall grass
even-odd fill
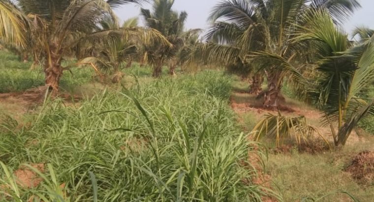
[[[242,93],[247,86],[239,78],[234,80],[233,87],[236,92],[233,92],[232,106],[238,114],[238,122],[241,123],[244,131],[250,132],[264,115],[272,112],[254,108],[261,101]],[[320,114],[312,106],[289,98],[286,98],[286,103],[295,111],[281,113],[289,116],[304,114],[309,123],[318,126],[325,136],[331,138],[329,129],[320,127]],[[373,122],[361,124],[366,128],[373,127]],[[326,197],[318,201],[352,201],[342,192],[352,194],[360,202],[373,201],[373,184],[357,183],[348,172],[344,171],[355,155],[362,151],[373,151],[373,134],[370,130],[361,136],[353,134],[348,145],[343,148],[316,153],[299,152],[297,146],[272,151],[274,141],[265,140],[263,143],[270,150],[265,173],[271,178],[269,180],[271,187],[283,197],[285,202],[298,202],[306,198],[317,200],[323,196]]]

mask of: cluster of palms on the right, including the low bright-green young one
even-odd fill
[[[255,93],[266,75],[265,107],[279,106],[282,83],[292,78],[324,113],[335,145],[344,145],[357,123],[374,114],[373,31],[357,29],[361,41],[353,43],[341,28],[359,6],[356,0],[222,0],[210,16],[205,57],[239,60],[252,70]]]

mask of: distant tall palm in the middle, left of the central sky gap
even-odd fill
[[[147,61],[154,67],[153,76],[158,77],[161,73],[162,65],[169,64],[169,73],[175,74],[177,65],[176,53],[183,46],[181,34],[187,19],[187,13],[180,13],[172,10],[174,0],[154,0],[153,12],[148,9],[141,9],[141,15],[146,22],[146,26],[159,31],[172,44],[172,47],[154,44],[146,47]]]

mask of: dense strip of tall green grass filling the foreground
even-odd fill
[[[47,101],[31,126],[1,124],[0,184],[16,187],[13,201],[261,201],[247,161],[261,154],[234,122],[230,83],[207,71],[73,106]],[[31,163],[48,164],[43,183],[9,186],[11,170]]]

